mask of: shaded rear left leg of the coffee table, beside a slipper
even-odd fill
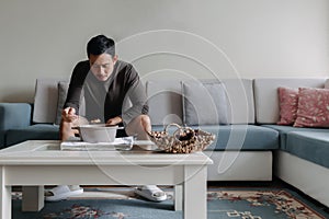
[[[23,186],[22,193],[22,211],[39,211],[44,207],[44,186]]]

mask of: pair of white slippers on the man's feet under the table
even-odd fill
[[[70,189],[67,185],[59,185],[53,189],[45,192],[45,200],[58,201],[67,199],[68,197],[80,195],[83,188],[78,186],[76,189]],[[135,188],[135,193],[151,201],[163,201],[167,199],[167,194],[156,185],[144,185]]]

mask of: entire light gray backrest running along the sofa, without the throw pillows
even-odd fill
[[[58,84],[66,79],[37,79],[33,123],[56,123]],[[324,88],[326,78],[224,79],[229,124],[275,124],[279,120],[279,87]],[[183,124],[181,81],[146,81],[152,125]],[[65,94],[66,95],[66,94]]]

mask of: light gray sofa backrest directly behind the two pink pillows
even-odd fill
[[[264,78],[254,79],[256,122],[276,124],[280,119],[279,87],[325,88],[325,78]]]

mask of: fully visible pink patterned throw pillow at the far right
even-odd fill
[[[299,88],[295,127],[329,127],[329,89]]]

